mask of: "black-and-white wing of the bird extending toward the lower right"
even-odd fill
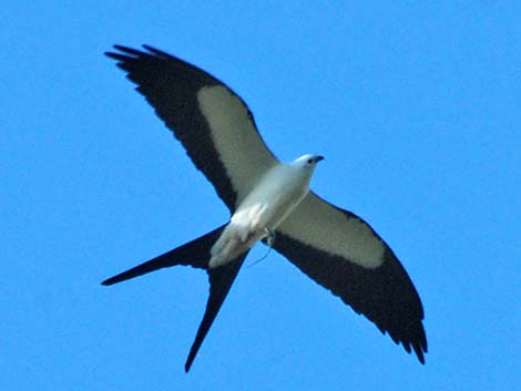
[[[309,193],[277,228],[274,248],[425,363],[423,308],[389,246],[356,215]]]

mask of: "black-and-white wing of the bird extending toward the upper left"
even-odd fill
[[[278,161],[244,101],[203,70],[149,45],[105,53],[137,86],[233,212]]]

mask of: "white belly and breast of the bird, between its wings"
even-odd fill
[[[277,226],[304,199],[309,177],[292,175],[292,167],[280,165],[266,174],[233,214],[229,224],[212,247],[210,267],[235,259],[260,240],[266,230]]]

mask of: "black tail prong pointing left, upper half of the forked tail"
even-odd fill
[[[113,285],[127,279],[142,276],[144,274],[176,265],[193,266],[202,269],[208,268],[211,258],[210,249],[217,240],[225,225],[212,230],[211,233],[198,237],[192,241],[184,244],[168,253],[160,255],[144,264],[137,265],[126,271],[123,271],[114,277],[111,277],[102,285]]]

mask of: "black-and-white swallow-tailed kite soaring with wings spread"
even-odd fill
[[[425,363],[423,306],[406,269],[368,223],[309,188],[324,156],[277,160],[244,100],[172,54],[146,44],[116,44],[104,54],[126,73],[229,210],[229,220],[212,231],[102,282],[111,286],[177,265],[206,271],[210,296],[185,372],[257,243],[274,248]]]

